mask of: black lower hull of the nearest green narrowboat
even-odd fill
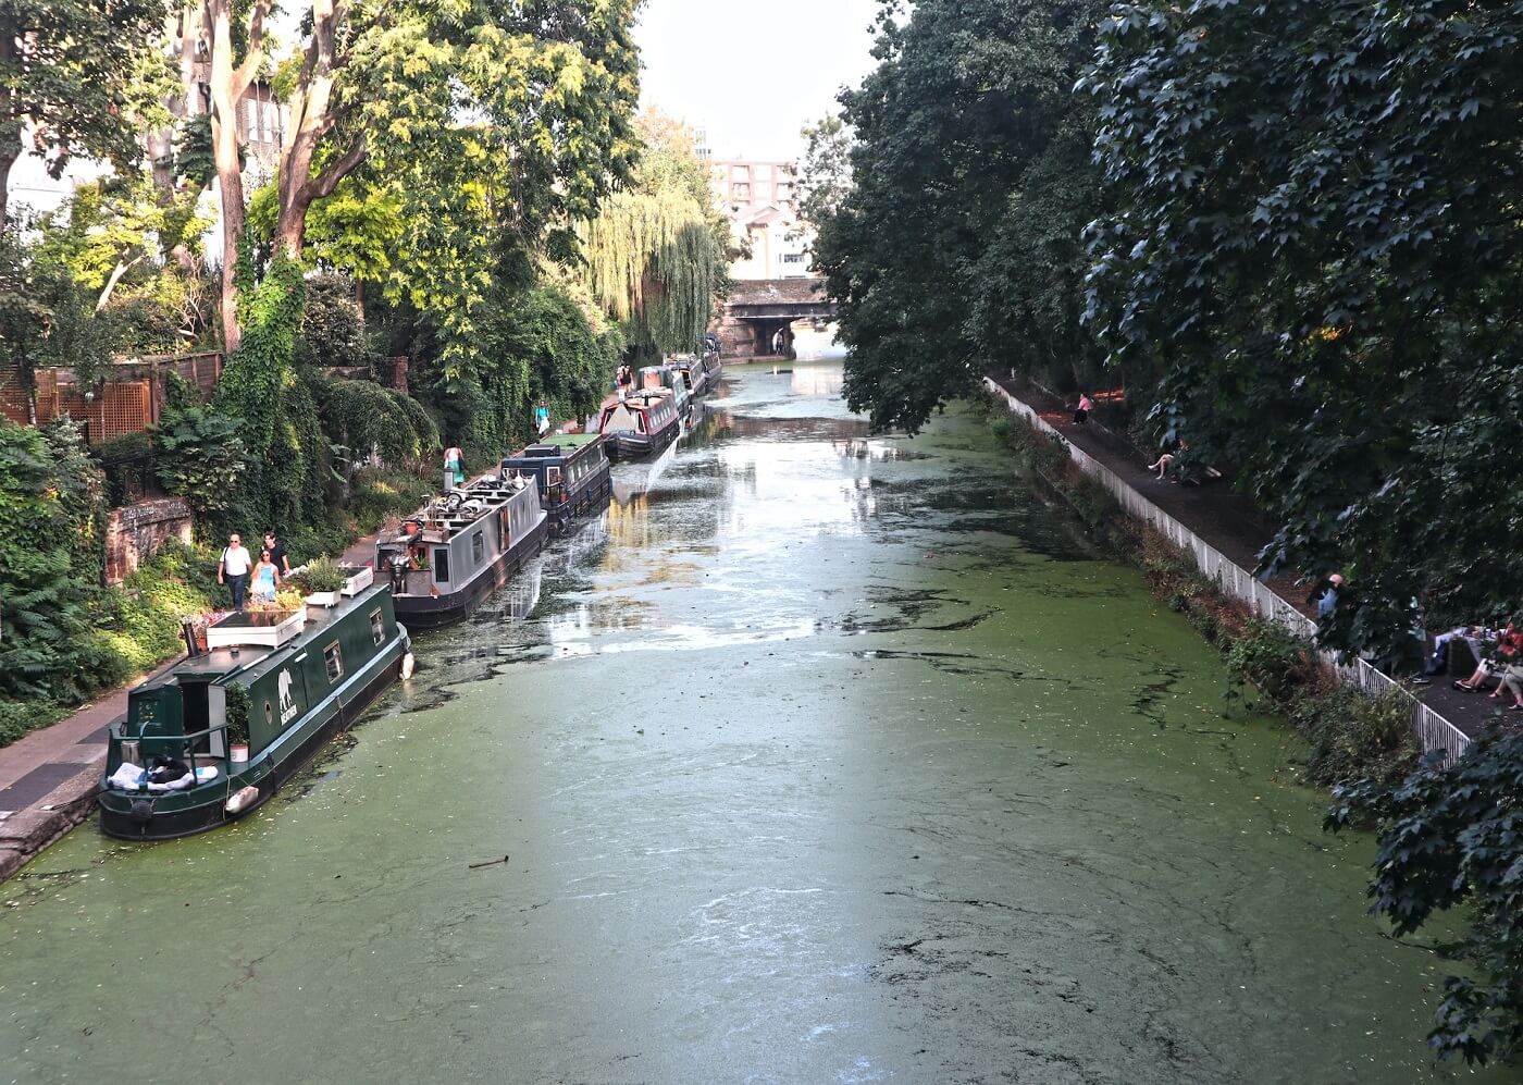
[[[375,674],[347,699],[335,698],[326,709],[318,706],[309,719],[295,725],[295,745],[283,750],[279,760],[262,760],[241,773],[190,788],[183,792],[137,794],[102,791],[101,832],[117,840],[175,840],[216,829],[257,809],[280,786],[305,768],[332,738],[347,730],[398,680],[407,648],[402,637],[388,645],[373,661]],[[245,786],[257,788],[259,797],[238,814],[227,812],[227,800]]]

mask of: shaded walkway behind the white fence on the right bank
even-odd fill
[[[1040,413],[1066,440],[1104,463],[1164,512],[1231,558],[1234,564],[1249,571],[1258,565],[1258,553],[1273,538],[1275,527],[1252,500],[1232,491],[1226,483],[1179,486],[1159,482],[1147,469],[1156,456],[1144,453],[1129,439],[1094,419],[1084,424],[1074,422],[1072,405],[1065,404],[1040,386],[1023,379],[1011,381],[995,373],[990,376],[1010,395]],[[1101,413],[1103,410],[1101,407]],[[1314,614],[1307,587],[1298,584],[1293,573],[1276,576],[1267,584],[1302,614]],[[1453,678],[1456,675],[1439,675],[1432,686],[1412,686],[1410,690],[1436,713],[1471,736],[1496,724],[1499,718],[1512,722],[1523,716],[1523,713],[1502,712],[1499,699],[1451,689]]]

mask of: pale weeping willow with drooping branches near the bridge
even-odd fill
[[[641,117],[646,152],[634,181],[582,230],[588,285],[624,328],[637,358],[693,349],[725,282],[728,227],[714,210],[691,139]]]

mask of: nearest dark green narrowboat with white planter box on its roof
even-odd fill
[[[385,584],[332,608],[238,611],[206,643],[131,690],[111,724],[97,799],[108,837],[171,840],[248,814],[396,681],[408,654]]]

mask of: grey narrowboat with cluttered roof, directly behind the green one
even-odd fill
[[[545,544],[550,520],[528,478],[483,475],[428,501],[376,539],[376,570],[413,632],[474,611]]]

